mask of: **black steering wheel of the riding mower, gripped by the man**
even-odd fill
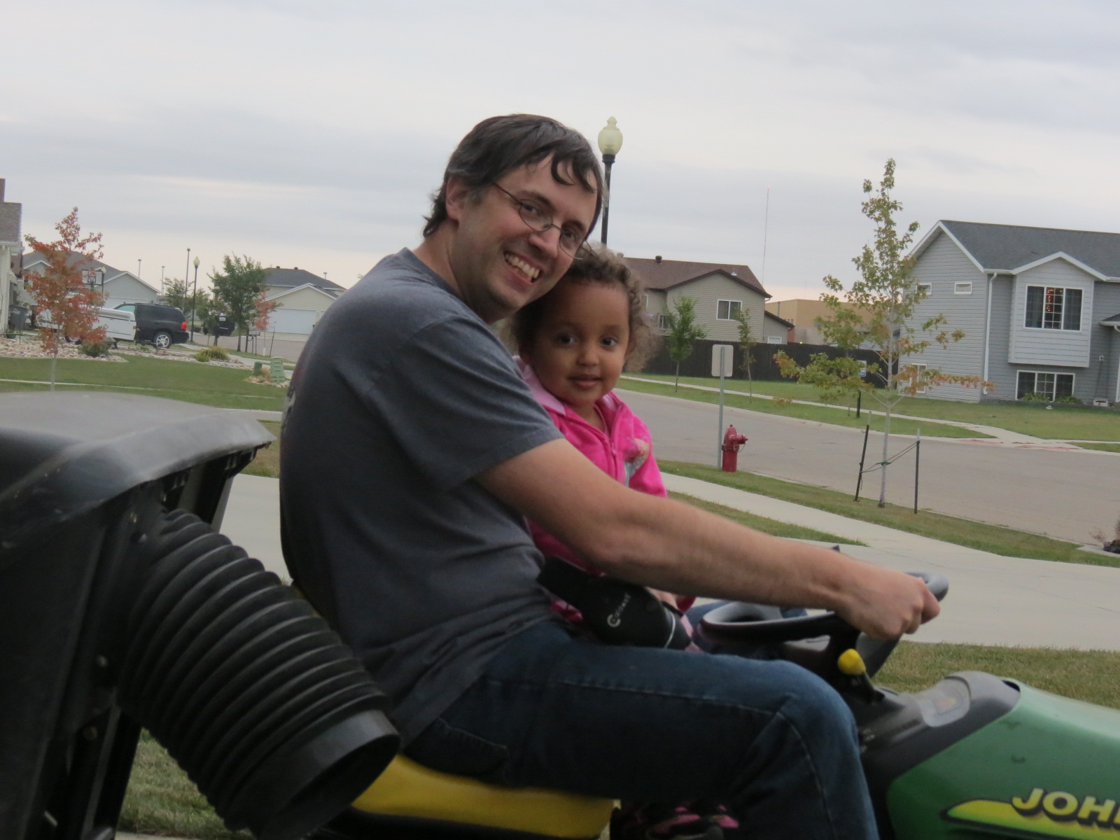
[[[928,571],[909,572],[921,578],[930,592],[941,600],[949,591],[949,580],[943,575]],[[708,613],[700,620],[700,632],[709,642],[735,652],[736,648],[755,648],[762,644],[781,644],[828,637],[825,645],[788,645],[783,653],[822,676],[836,671],[836,660],[846,650],[855,647],[874,675],[887,661],[898,640],[880,641],[867,636],[836,613],[778,618],[776,607],[758,604],[732,603]]]

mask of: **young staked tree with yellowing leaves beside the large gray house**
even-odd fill
[[[892,158],[887,160],[878,188],[870,180],[864,181],[864,193],[869,197],[861,207],[864,215],[875,223],[875,241],[864,245],[859,256],[852,258],[859,279],[846,290],[840,280],[831,274],[825,277],[827,291],[821,300],[829,316],[816,320],[827,344],[844,351],[870,345],[879,361],[867,365],[865,379],[860,376],[860,361],[850,356],[830,358],[827,353],[816,353],[804,367],[785,353],[776,356],[783,376],[795,376],[799,382],[816,386],[825,401],[866,392],[883,405],[879,507],[886,504],[890,412],[898,401],[931,385],[954,383],[979,388],[987,384],[980,376],[945,373],[905,362],[934,343],[948,347],[950,342],[961,340],[964,333],[950,330],[948,319],[941,314],[923,321],[914,320],[915,307],[926,297],[925,289],[912,278],[914,259],[906,255],[918,224],[912,222],[899,235],[894,215],[903,205],[892,197],[894,187],[895,161]],[[872,375],[880,377],[885,388],[875,388],[869,381]]]

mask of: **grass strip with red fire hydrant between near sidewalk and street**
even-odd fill
[[[815,507],[848,519],[871,522],[876,525],[885,525],[956,545],[967,545],[971,549],[990,551],[993,554],[1055,560],[1063,563],[1120,567],[1120,554],[1095,554],[1080,551],[1079,547],[1072,542],[1016,531],[1001,525],[963,520],[922,508],[918,508],[915,514],[911,507],[894,504],[879,507],[875,498],[865,497],[855,502],[852,496],[847,493],[813,487],[808,484],[795,484],[743,470],[724,473],[716,467],[685,461],[661,460],[657,464],[663,473],[699,478],[703,482],[721,484],[748,493],[758,493],[763,496]]]

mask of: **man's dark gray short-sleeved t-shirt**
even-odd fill
[[[552,616],[524,519],[474,477],[558,437],[486,324],[408,249],[308,340],[284,421],[284,559],[405,739]]]

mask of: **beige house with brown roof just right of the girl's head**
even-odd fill
[[[749,310],[747,320],[757,340],[780,335],[777,325],[767,324],[764,317],[771,296],[747,265],[683,262],[661,256],[652,260],[624,256],[623,261],[645,286],[645,309],[657,326],[663,325],[661,316],[669,312],[676,300],[688,297],[697,301],[697,323],[708,330],[708,338],[738,343],[736,314],[741,310]]]

